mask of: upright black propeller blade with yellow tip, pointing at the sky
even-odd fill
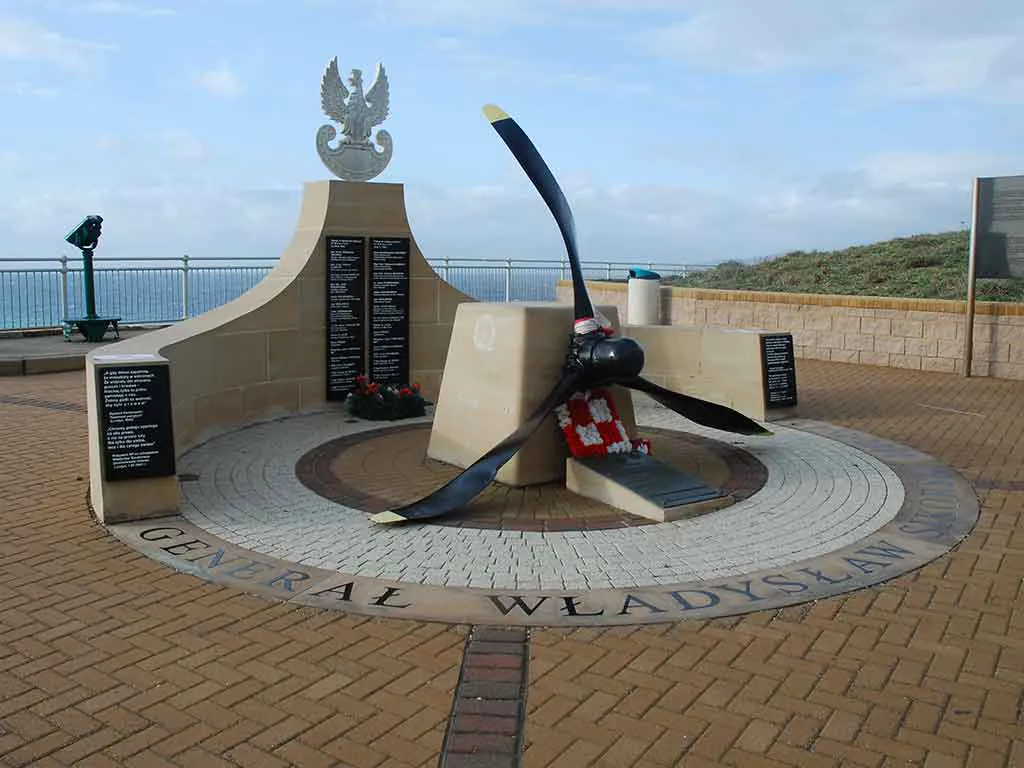
[[[572,271],[572,303],[575,319],[586,319],[594,316],[594,305],[587,293],[587,285],[583,280],[583,267],[580,266],[580,251],[575,242],[575,220],[572,211],[565,201],[562,189],[555,181],[554,174],[544,162],[541,153],[534,146],[519,124],[510,118],[504,110],[494,104],[483,108],[483,115],[490,121],[490,126],[502,137],[509,150],[519,161],[519,165],[541,193],[544,202],[548,204],[551,214],[555,217],[558,230],[565,241],[565,250],[569,255],[569,269]]]

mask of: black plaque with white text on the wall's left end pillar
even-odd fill
[[[96,371],[103,479],[168,477],[174,468],[171,379],[166,365]]]

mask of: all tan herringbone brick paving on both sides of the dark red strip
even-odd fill
[[[526,766],[1024,766],[1024,384],[800,382],[801,416],[978,483],[975,532],[776,613],[534,631]],[[83,390],[0,379],[0,764],[437,765],[466,628],[266,603],[127,549],[85,513]]]

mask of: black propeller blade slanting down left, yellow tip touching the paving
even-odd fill
[[[426,520],[455,512],[469,504],[490,481],[515,453],[522,447],[529,436],[557,406],[569,398],[579,389],[583,372],[568,369],[551,393],[537,407],[530,417],[515,432],[495,445],[490,451],[473,462],[458,476],[453,477],[437,490],[404,507],[373,515],[374,522],[394,523],[409,520]]]

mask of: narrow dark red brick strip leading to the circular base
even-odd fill
[[[520,765],[528,658],[525,629],[472,629],[439,768]]]

